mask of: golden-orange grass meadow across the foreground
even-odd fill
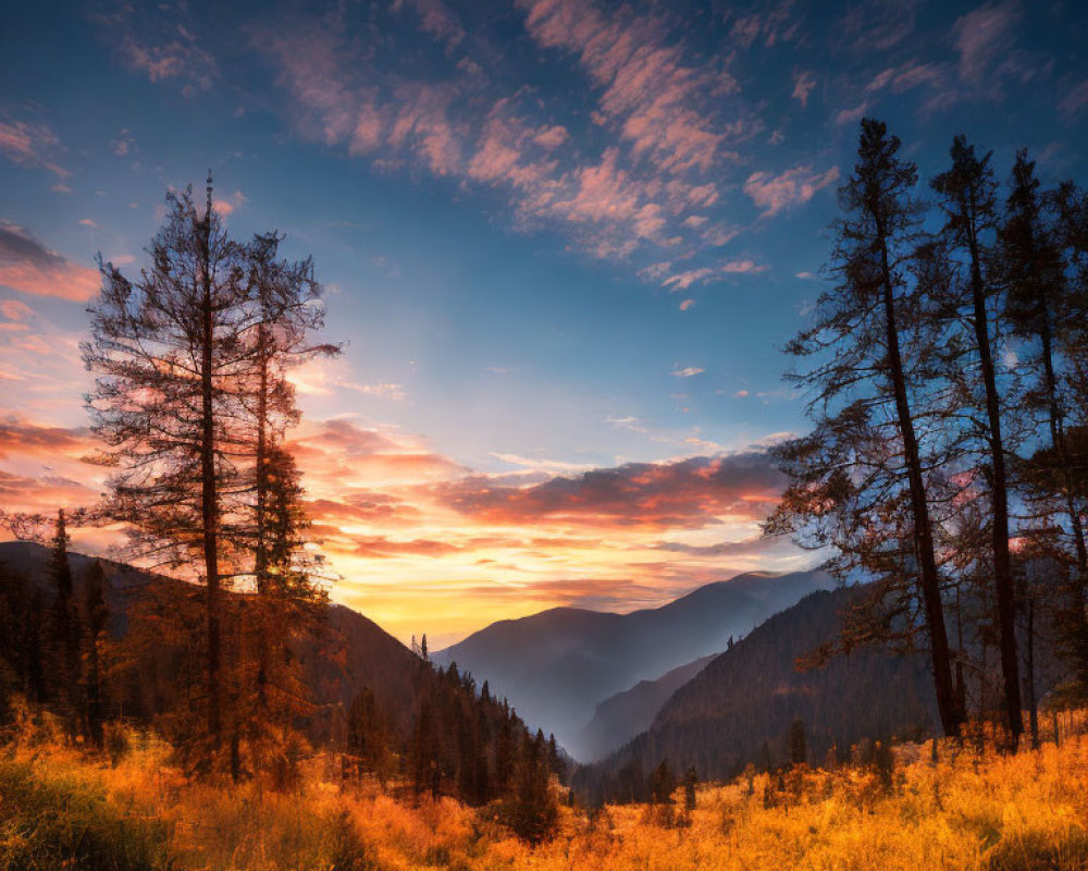
[[[890,789],[857,768],[794,772],[784,792],[766,775],[705,785],[690,817],[678,793],[672,826],[640,806],[594,817],[564,809],[559,834],[535,848],[487,809],[452,799],[412,807],[376,785],[342,790],[323,776],[333,766],[321,758],[283,795],[188,783],[169,766],[168,749],[136,738],[113,768],[54,745],[23,747],[0,764],[29,763],[42,781],[103,792],[122,817],[164,824],[171,867],[181,869],[1088,869],[1085,736],[1015,757],[942,745],[937,764],[928,746],[908,749],[900,756],[914,761],[901,760]],[[2,850],[0,839],[0,869]]]

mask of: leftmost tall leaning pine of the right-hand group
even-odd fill
[[[766,524],[803,547],[831,545],[841,576],[875,577],[893,598],[870,628],[892,626],[888,613],[912,613],[930,651],[945,734],[963,722],[952,683],[941,577],[929,488],[940,445],[927,455],[917,429],[917,366],[934,336],[919,317],[908,267],[919,232],[913,191],[917,170],[879,121],[862,121],[857,161],[840,191],[844,217],[834,225],[834,284],[817,303],[814,324],[788,351],[813,360],[792,376],[811,392],[814,431],[772,452],[791,482]],[[882,601],[877,604],[885,605]],[[914,622],[900,621],[907,635]],[[887,636],[885,636],[887,637]]]

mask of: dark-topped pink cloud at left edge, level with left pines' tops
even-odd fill
[[[99,275],[50,250],[22,226],[0,220],[0,284],[36,296],[85,302],[98,293]]]

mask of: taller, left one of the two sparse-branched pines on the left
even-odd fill
[[[151,265],[131,281],[100,262],[84,360],[97,380],[87,397],[101,462],[113,469],[109,512],[128,524],[134,551],[154,567],[200,566],[205,586],[203,736],[212,757],[223,736],[221,590],[237,565],[230,530],[237,506],[238,431],[234,380],[245,348],[240,248],[211,205],[170,194]]]

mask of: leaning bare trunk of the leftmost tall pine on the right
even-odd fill
[[[922,569],[920,587],[926,611],[926,627],[929,631],[934,685],[937,691],[937,709],[941,727],[945,735],[959,736],[963,723],[963,712],[956,704],[956,694],[952,686],[951,657],[949,654],[948,631],[944,626],[944,610],[941,605],[941,588],[934,555],[934,533],[926,502],[926,486],[922,475],[922,459],[918,440],[911,417],[911,405],[906,395],[906,379],[903,375],[903,358],[899,346],[899,326],[895,316],[895,298],[892,292],[891,269],[888,265],[887,236],[883,221],[876,209],[870,210],[876,222],[880,245],[880,265],[883,289],[885,329],[888,342],[888,366],[891,369],[892,390],[895,396],[895,412],[899,429],[903,438],[903,453],[906,458],[907,478],[911,490],[911,508],[914,518],[914,548]]]

